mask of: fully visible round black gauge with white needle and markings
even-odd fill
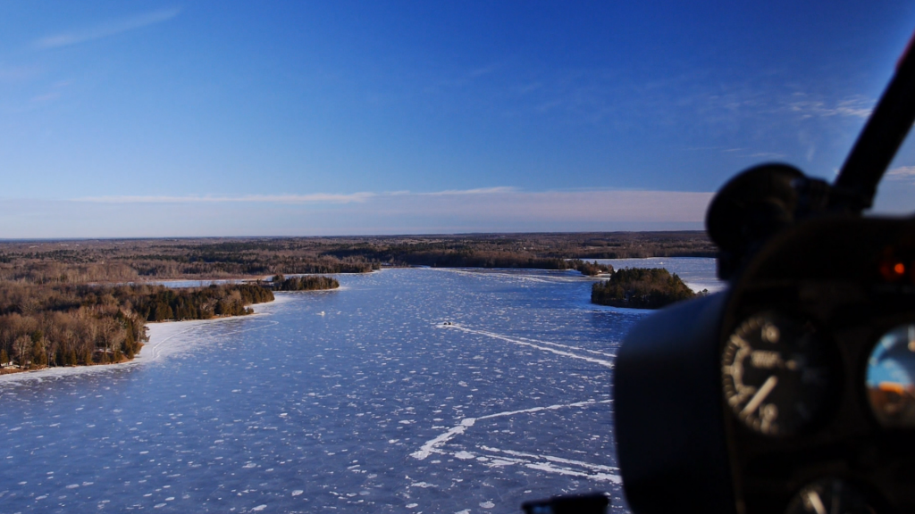
[[[813,325],[764,312],[727,338],[721,357],[725,401],[749,429],[797,434],[823,412],[832,372]]]

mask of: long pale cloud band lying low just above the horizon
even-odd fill
[[[5,198],[0,238],[696,230],[711,192],[482,187],[350,195]]]

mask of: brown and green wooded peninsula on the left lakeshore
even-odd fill
[[[251,314],[269,302],[260,285],[187,289],[0,283],[0,374],[54,366],[133,359],[147,321],[210,319]]]

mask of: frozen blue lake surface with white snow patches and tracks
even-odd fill
[[[619,505],[612,362],[643,314],[590,305],[576,272],[338,278],[180,326],[160,359],[0,382],[0,511]]]

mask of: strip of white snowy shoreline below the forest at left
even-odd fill
[[[163,321],[146,324],[146,336],[149,340],[140,348],[133,360],[118,362],[117,364],[95,364],[92,366],[72,366],[62,368],[45,368],[34,371],[22,371],[19,373],[10,373],[0,375],[0,387],[6,384],[16,384],[25,381],[42,381],[57,380],[64,377],[76,375],[86,375],[89,373],[98,373],[108,369],[118,369],[127,366],[138,366],[148,362],[155,362],[171,352],[171,350],[181,348],[186,341],[180,337],[183,334],[193,331],[197,327],[209,325],[211,323],[221,323],[230,319],[239,319],[242,317],[264,316],[263,307],[267,305],[280,305],[291,300],[286,294],[274,294],[274,300],[262,304],[248,305],[254,310],[253,315],[247,316],[226,316],[213,319],[190,319],[187,321]]]

